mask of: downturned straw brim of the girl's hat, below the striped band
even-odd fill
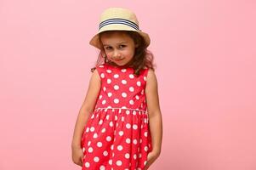
[[[94,35],[94,37],[90,40],[89,44],[94,46],[95,48],[102,49],[102,45],[100,42],[100,32],[104,32],[104,31],[136,31],[139,33],[141,37],[144,38],[146,47],[148,47],[151,43],[151,38],[147,33],[143,31],[138,31],[135,29],[133,30],[130,27],[128,28],[124,28],[123,26],[118,27],[117,25],[117,26],[113,26],[112,28],[110,26],[105,26],[105,28],[101,29],[96,35]]]

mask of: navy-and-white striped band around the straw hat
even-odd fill
[[[125,19],[109,19],[109,20],[104,20],[104,21],[102,21],[100,23],[99,30],[103,26],[108,26],[108,25],[112,25],[112,24],[121,24],[121,25],[125,25],[125,26],[130,26],[130,27],[134,28],[135,30],[139,31],[139,26],[137,24],[135,24],[134,22],[132,22],[130,20],[125,20]]]

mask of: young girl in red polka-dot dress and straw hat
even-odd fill
[[[162,144],[150,37],[132,11],[108,8],[90,44],[100,55],[77,117],[72,160],[82,170],[147,169]]]

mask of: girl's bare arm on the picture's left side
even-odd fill
[[[72,160],[77,165],[82,166],[82,149],[81,149],[81,139],[83,128],[88,121],[90,113],[94,111],[94,106],[96,104],[97,97],[100,93],[100,76],[97,70],[94,70],[92,77],[90,78],[88,91],[86,97],[82,103],[82,107],[77,116],[77,122],[75,125],[73,139],[71,144],[72,149]]]

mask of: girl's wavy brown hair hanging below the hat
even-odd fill
[[[108,31],[105,31],[105,32],[108,32]],[[100,35],[105,32],[101,32]],[[155,65],[153,64],[154,55],[151,53],[151,51],[149,51],[146,48],[144,38],[141,37],[139,33],[135,31],[124,31],[124,32],[134,40],[135,44],[139,45],[137,48],[135,48],[134,57],[128,63],[127,66],[132,67],[134,69],[134,74],[136,76],[139,76],[140,71],[145,68],[155,70],[154,69]],[[96,69],[97,65],[101,65],[104,63],[113,64],[110,60],[106,58],[104,49],[102,48],[100,50],[100,54],[96,61],[96,65],[94,66],[94,68],[91,69],[91,71],[93,72]]]

